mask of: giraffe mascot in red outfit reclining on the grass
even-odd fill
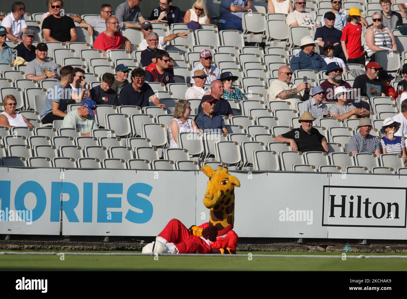
[[[181,221],[172,219],[155,242],[144,246],[143,253],[236,253],[234,187],[240,187],[239,179],[222,166],[215,171],[205,165],[201,171],[209,177],[204,196],[204,205],[210,209],[209,222],[187,229]]]

